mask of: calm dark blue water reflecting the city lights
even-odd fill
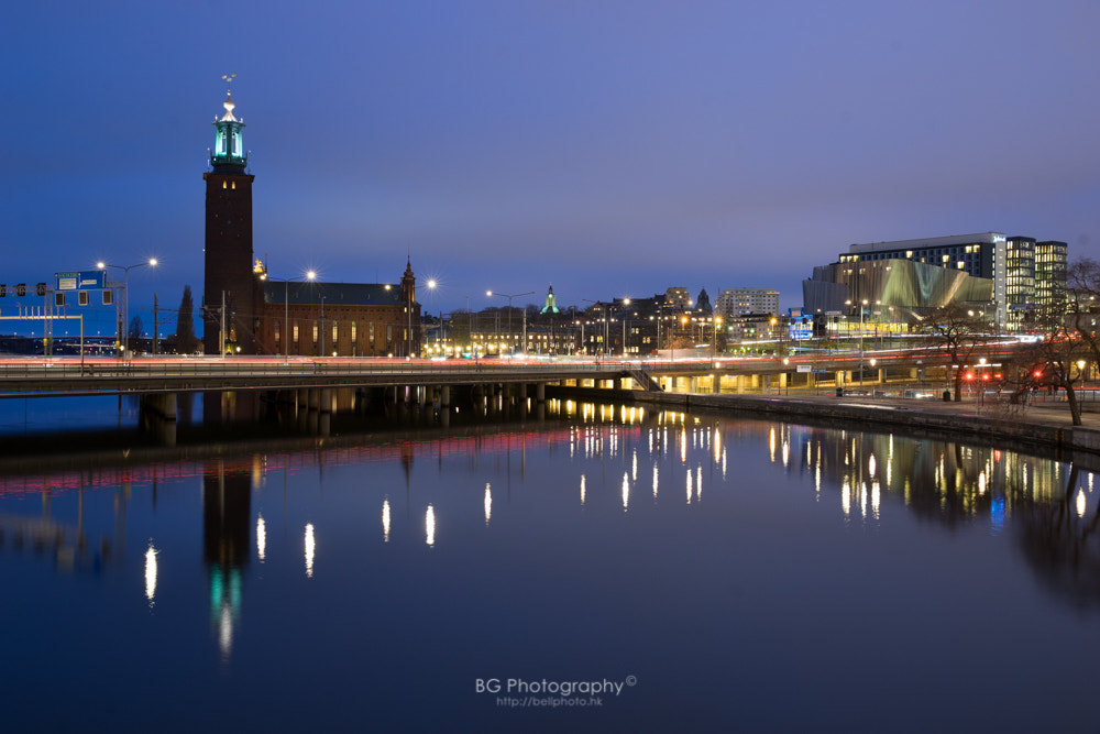
[[[1094,728],[1092,467],[473,414],[9,470],[3,728]]]

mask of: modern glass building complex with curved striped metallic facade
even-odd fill
[[[811,314],[848,314],[868,302],[904,318],[948,304],[992,303],[1004,327],[1010,307],[1044,305],[1064,291],[1065,263],[1064,242],[998,232],[853,244],[836,263],[815,267],[802,289]]]

